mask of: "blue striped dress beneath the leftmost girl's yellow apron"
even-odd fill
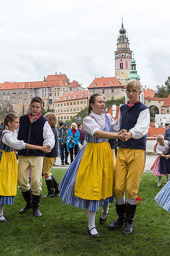
[[[5,152],[14,151],[14,148],[9,147],[2,142],[2,138],[5,133],[7,133],[7,132],[3,132],[2,136],[1,136],[1,140],[0,140],[0,143],[1,143],[1,145],[0,145],[0,162],[1,162],[1,157],[2,157],[2,153],[3,153],[1,150],[4,150]],[[14,196],[1,196],[0,195],[0,205],[13,204],[13,203],[14,203]]]

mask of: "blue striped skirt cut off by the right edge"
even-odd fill
[[[159,191],[155,201],[166,211],[170,212],[170,182]]]

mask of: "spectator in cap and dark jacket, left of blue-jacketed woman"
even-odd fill
[[[67,128],[67,123],[64,122],[60,131],[58,132],[58,143],[60,144],[60,150],[61,150],[61,161],[62,161],[62,165],[69,165],[68,162],[68,151],[67,151],[67,137],[68,137],[68,131],[69,129]],[[64,151],[65,151],[65,155],[64,155]],[[65,161],[64,161],[65,158]]]

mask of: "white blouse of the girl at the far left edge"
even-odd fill
[[[6,132],[7,131],[7,132]],[[10,130],[4,130],[2,134],[6,132],[2,138],[2,142],[12,148],[15,148],[17,150],[21,150],[22,148],[26,148],[26,143],[24,143],[23,140],[17,140],[17,132],[16,130],[10,131]]]

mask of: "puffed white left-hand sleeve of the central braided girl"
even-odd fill
[[[90,116],[87,116],[83,119],[83,129],[90,135],[93,136],[93,134],[96,131],[100,131],[100,125],[95,122],[93,118]]]

